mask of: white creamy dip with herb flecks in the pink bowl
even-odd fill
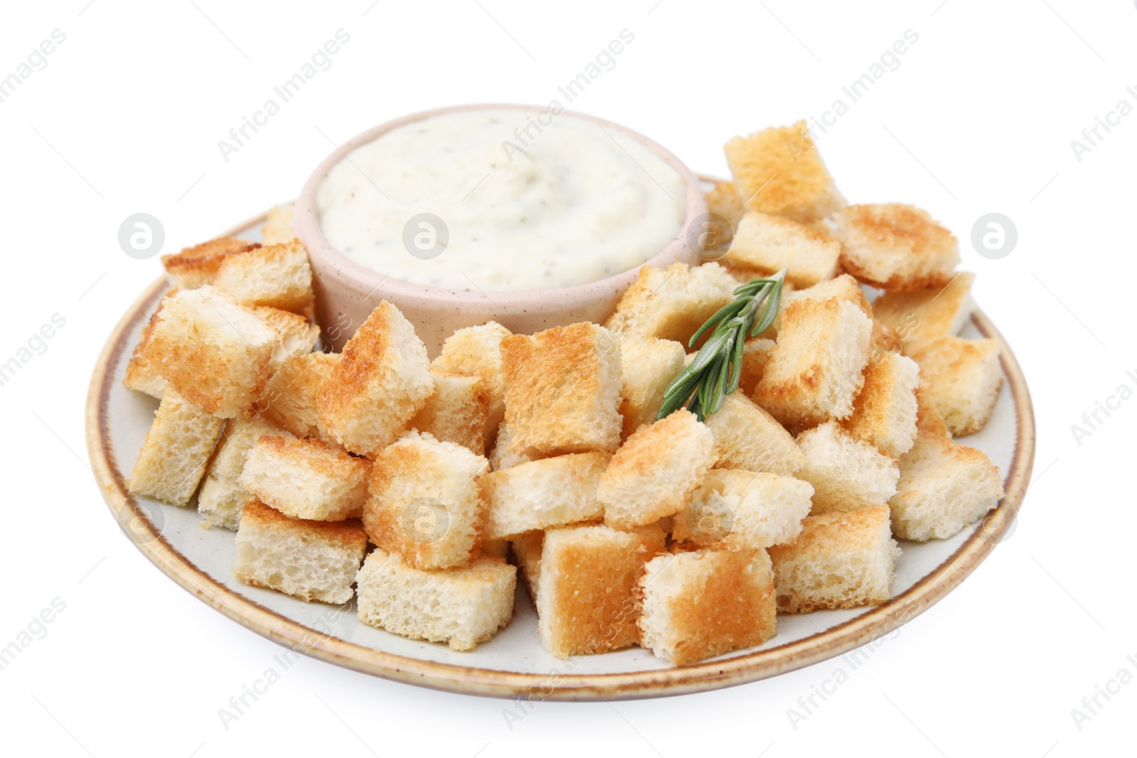
[[[457,110],[352,150],[316,192],[324,236],[391,278],[531,291],[633,268],[679,233],[680,174],[557,111]]]

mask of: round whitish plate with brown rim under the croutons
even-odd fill
[[[711,181],[711,180],[707,180]],[[264,216],[225,234],[257,240]],[[963,336],[1002,348],[1003,389],[982,432],[964,438],[1004,475],[1006,497],[985,520],[948,540],[901,542],[894,598],[883,605],[778,617],[778,634],[758,648],[673,667],[639,648],[561,660],[547,653],[537,616],[518,582],[513,620],[471,652],[406,640],[366,626],[348,606],[307,603],[238,582],[233,533],[205,530],[194,507],[165,506],[126,491],[158,401],[123,386],[139,334],[166,292],[156,281],[115,326],[94,367],[86,403],[91,467],[110,513],[139,550],[202,602],[273,642],[338,666],[451,692],[542,700],[683,694],[775,676],[839,656],[919,616],[960,584],[1014,526],[1035,457],[1030,393],[1011,347],[977,310]]]

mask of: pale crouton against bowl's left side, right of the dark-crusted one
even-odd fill
[[[247,306],[302,311],[312,305],[312,267],[299,240],[227,256],[214,280]]]

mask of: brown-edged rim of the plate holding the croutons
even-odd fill
[[[719,181],[699,175],[704,181]],[[232,235],[260,224],[266,214],[233,226],[223,233]],[[119,318],[96,361],[88,388],[85,436],[91,470],[103,500],[115,520],[124,530],[128,524],[147,530],[152,539],[133,540],[134,545],[183,590],[246,628],[297,652],[407,684],[460,694],[530,700],[591,701],[622,700],[687,694],[717,690],[769,678],[786,672],[812,666],[879,639],[915,618],[963,582],[1010,528],[1022,506],[1035,461],[1035,411],[1027,380],[1014,352],[980,309],[971,320],[984,336],[999,344],[999,363],[1015,408],[1015,448],[1005,473],[1006,494],[999,506],[987,514],[984,525],[955,552],[948,556],[915,584],[885,603],[869,608],[855,618],[807,638],[735,656],[689,666],[646,672],[614,674],[572,674],[551,670],[546,674],[508,672],[474,666],[424,660],[384,652],[339,638],[316,633],[287,616],[246,598],[221,584],[179,552],[157,531],[147,513],[126,491],[108,434],[109,392],[114,385],[114,367],[122,358],[130,336],[149,318],[152,306],[169,289],[161,275]],[[777,638],[775,638],[777,639]],[[565,666],[570,661],[564,661]]]

